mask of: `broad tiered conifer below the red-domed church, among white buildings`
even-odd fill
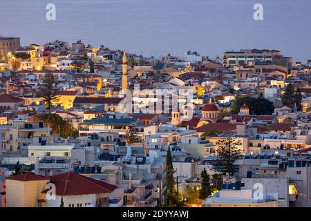
[[[232,175],[235,171],[234,161],[240,158],[242,154],[242,151],[237,147],[241,145],[241,142],[236,142],[234,138],[227,137],[224,140],[219,140],[216,144],[218,145],[218,149],[216,150],[218,155],[216,162],[216,165],[219,166],[218,171]]]

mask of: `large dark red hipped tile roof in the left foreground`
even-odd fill
[[[56,186],[57,195],[111,193],[117,186],[69,171],[48,177]]]

